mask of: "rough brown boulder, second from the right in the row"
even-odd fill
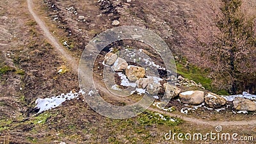
[[[225,98],[211,92],[207,93],[207,95],[204,97],[204,101],[210,108],[220,108],[227,102]]]

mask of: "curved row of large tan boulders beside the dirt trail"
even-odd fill
[[[104,58],[104,65],[111,66],[115,72],[125,72],[125,76],[129,79],[129,81],[135,82],[137,88],[147,89],[147,92],[151,95],[157,95],[161,88],[159,81],[162,81],[163,79],[150,76],[146,77],[145,68],[128,65],[127,61],[122,58],[118,58],[117,54],[108,52]],[[177,81],[182,85],[203,88],[202,84],[196,84],[195,81],[185,79],[181,76],[178,77]],[[227,99],[211,92],[205,93],[203,91],[196,90],[180,93],[180,88],[168,83],[164,83],[163,88],[165,97],[172,99],[173,97],[179,96],[180,102],[184,104],[197,105],[205,102],[209,108],[221,108],[227,103]],[[256,103],[243,97],[236,97],[233,104],[234,109],[240,111],[256,111]]]

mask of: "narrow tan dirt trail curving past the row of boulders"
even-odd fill
[[[38,17],[38,15],[36,15],[36,13],[33,11],[32,0],[27,0],[27,2],[28,2],[29,12],[35,19],[38,26],[44,32],[44,35],[47,37],[47,39],[52,44],[52,46],[56,48],[56,51],[60,52],[61,56],[63,56],[67,60],[67,63],[70,65],[70,68],[72,68],[72,70],[74,72],[76,72],[76,74],[78,74],[78,68],[79,68],[78,61],[76,61],[75,58],[70,56],[70,54],[68,54],[65,51],[65,48],[61,46],[61,44],[58,42],[58,40],[56,40],[56,38],[54,38],[54,36],[52,36],[51,32],[45,26],[44,22]],[[106,93],[107,95],[113,95],[112,93],[110,93],[106,88],[104,88],[100,84],[97,84],[97,86],[98,86],[98,88],[100,88],[100,90],[102,92]],[[124,100],[124,99],[122,99],[122,100]],[[127,101],[131,102],[131,100],[127,100]],[[148,110],[155,111],[157,113],[163,113],[164,115],[168,115],[168,116],[179,117],[179,118],[182,118],[183,120],[185,120],[186,122],[191,122],[191,123],[200,124],[200,125],[212,125],[212,126],[216,126],[216,125],[256,125],[256,120],[228,121],[228,122],[206,121],[206,120],[200,120],[198,118],[189,118],[188,116],[182,116],[182,115],[177,115],[177,114],[173,114],[173,113],[168,113],[166,111],[161,111],[161,110],[155,109],[155,108],[148,108]]]

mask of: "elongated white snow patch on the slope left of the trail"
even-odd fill
[[[66,100],[71,100],[75,99],[76,97],[79,96],[79,93],[84,93],[83,90],[80,90],[78,93],[73,93],[72,91],[70,93],[64,94],[61,93],[58,96],[50,97],[50,98],[45,98],[45,99],[37,99],[36,100],[36,107],[40,109],[38,113],[41,113],[42,111],[47,111],[52,108],[56,108],[60,106],[63,102]]]

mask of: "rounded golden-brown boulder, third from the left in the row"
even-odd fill
[[[129,65],[125,69],[125,75],[130,81],[137,81],[140,78],[145,77],[146,70],[143,67],[137,67],[134,65]]]

